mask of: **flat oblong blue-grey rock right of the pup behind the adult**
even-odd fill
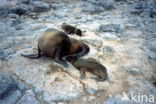
[[[108,24],[108,25],[100,25],[100,31],[103,32],[122,32],[122,29],[119,24]]]

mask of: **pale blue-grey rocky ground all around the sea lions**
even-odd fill
[[[106,66],[109,80],[20,56],[35,53],[39,36],[63,22],[82,29],[83,37],[70,37],[89,45],[84,58]],[[3,0],[0,41],[0,104],[156,103],[155,0]]]

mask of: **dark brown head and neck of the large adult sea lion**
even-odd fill
[[[72,55],[76,57],[81,57],[90,51],[90,48],[80,40],[70,38],[71,47],[70,51],[67,52],[66,56]]]

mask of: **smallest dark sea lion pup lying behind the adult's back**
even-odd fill
[[[74,26],[71,26],[71,25],[68,25],[66,23],[63,23],[61,25],[61,28],[68,34],[76,34],[76,35],[82,36],[81,30],[76,28],[76,27],[74,27]]]

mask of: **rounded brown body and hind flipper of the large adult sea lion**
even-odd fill
[[[40,57],[40,53],[54,58],[55,61],[61,60],[62,56],[70,51],[71,42],[68,35],[56,29],[46,30],[38,40],[38,54],[24,55],[31,59]]]

